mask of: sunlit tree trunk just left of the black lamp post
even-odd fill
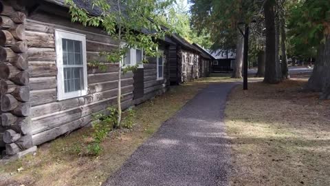
[[[234,63],[234,72],[232,72],[232,78],[241,79],[243,70],[243,46],[244,38],[239,33],[236,46],[236,60]]]

